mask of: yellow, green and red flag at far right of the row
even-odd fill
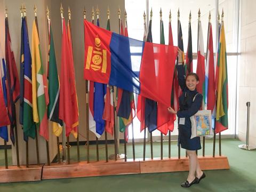
[[[217,85],[217,108],[215,132],[228,129],[228,73],[224,23],[220,27],[217,69],[215,82]]]

